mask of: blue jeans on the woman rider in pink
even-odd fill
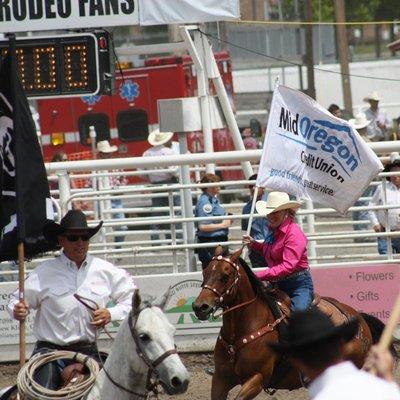
[[[288,277],[278,283],[291,300],[292,311],[304,311],[310,307],[314,298],[314,285],[310,271],[305,274]]]

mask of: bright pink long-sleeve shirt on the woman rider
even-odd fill
[[[286,218],[274,231],[274,242],[253,242],[251,249],[261,253],[268,265],[255,274],[261,280],[273,281],[307,269],[307,238],[300,227]]]

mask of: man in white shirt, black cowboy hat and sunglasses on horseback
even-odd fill
[[[102,222],[90,228],[82,211],[70,210],[60,224],[50,222],[44,227],[45,238],[58,243],[61,254],[39,264],[25,281],[25,299],[19,300],[16,291],[8,305],[10,315],[19,321],[36,310],[33,354],[69,350],[97,358],[96,331],[129,314],[136,287],[132,276],[88,254],[89,240],[101,226]],[[110,301],[114,306],[108,306]],[[59,374],[54,365],[49,369]],[[42,371],[39,383],[56,388],[59,377],[48,375],[49,371]]]

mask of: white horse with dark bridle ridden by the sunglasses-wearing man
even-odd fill
[[[86,400],[146,399],[154,388],[152,377],[169,395],[186,391],[189,373],[175,349],[175,328],[162,311],[166,300],[167,294],[153,305],[135,290],[132,311]]]

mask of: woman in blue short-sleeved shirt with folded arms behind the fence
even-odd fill
[[[200,183],[214,183],[220,182],[221,179],[215,174],[205,174]],[[227,215],[224,208],[221,206],[217,195],[220,191],[219,186],[211,186],[202,188],[203,193],[197,200],[195,216],[196,217],[212,217]],[[227,242],[228,241],[228,228],[232,225],[232,220],[199,220],[197,222],[197,243],[210,243],[210,242]],[[202,268],[206,268],[214,256],[216,246],[203,247],[197,249],[197,255],[201,262]]]

